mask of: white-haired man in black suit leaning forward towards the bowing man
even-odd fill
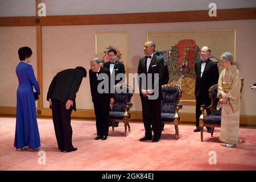
[[[100,66],[101,60],[94,57],[90,60],[90,93],[96,116],[97,137],[96,140],[106,140],[109,134],[109,109],[114,102],[114,94],[110,93],[110,87],[114,86],[110,81],[108,68]]]

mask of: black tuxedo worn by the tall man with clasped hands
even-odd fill
[[[147,84],[147,81],[142,81],[141,78],[138,78],[138,84],[139,84],[139,90],[140,90],[140,96],[142,101],[142,114],[143,114],[143,123],[145,128],[145,136],[146,137],[152,137],[152,131],[151,131],[151,125],[152,130],[154,131],[154,137],[160,138],[162,133],[162,127],[161,127],[161,99],[162,99],[162,82],[164,77],[164,60],[162,57],[156,56],[155,54],[152,56],[150,66],[148,68],[147,72],[147,62],[146,62],[146,56],[142,57],[139,60],[138,65],[138,75],[141,76],[141,74],[145,74],[146,78],[148,79],[147,75],[148,73],[152,73],[153,79],[150,85]],[[159,74],[159,77],[156,77],[154,75],[155,73]],[[148,97],[143,97],[141,90],[142,89],[154,89],[154,82],[155,79],[158,79],[159,84],[159,96],[156,100],[149,100]]]

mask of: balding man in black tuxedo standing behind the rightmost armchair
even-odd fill
[[[200,110],[201,105],[210,105],[209,88],[212,85],[218,84],[218,66],[217,63],[209,59],[210,49],[204,46],[201,49],[201,61],[197,61],[195,64],[196,71],[196,129],[194,132],[199,132],[199,117],[202,113]],[[207,110],[207,115],[210,114],[210,110]],[[207,127],[207,132],[210,133],[211,127]]]

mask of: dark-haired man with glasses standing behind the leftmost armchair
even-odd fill
[[[125,66],[123,65],[123,63],[116,60],[117,51],[115,49],[109,49],[108,56],[110,58],[110,61],[104,63],[103,67],[109,69],[111,79],[112,81],[114,81],[115,85],[117,85],[118,83],[122,84],[123,82],[125,82]],[[118,127],[118,123],[119,122],[115,122],[114,127]],[[109,126],[112,126],[112,122],[109,123]]]

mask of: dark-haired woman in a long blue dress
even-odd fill
[[[28,63],[31,61],[32,50],[29,47],[19,48],[20,63],[16,67],[19,80],[17,89],[16,129],[14,147],[16,150],[39,150],[40,137],[36,121],[35,97],[32,86],[38,95],[40,89],[34,70]]]

